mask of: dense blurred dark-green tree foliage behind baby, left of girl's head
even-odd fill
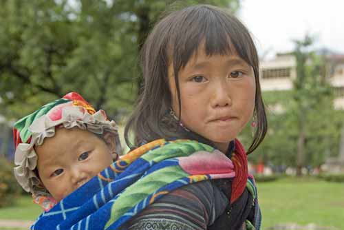
[[[18,118],[70,91],[110,116],[127,112],[151,26],[166,6],[195,3],[239,8],[239,0],[1,1],[0,114]]]

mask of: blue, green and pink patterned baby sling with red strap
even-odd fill
[[[248,180],[243,155],[244,151],[236,151],[233,164],[220,151],[194,140],[155,140],[129,152],[58,202],[31,229],[118,229],[170,191],[217,178],[233,178],[230,200],[235,202]],[[244,186],[238,184],[243,181]]]

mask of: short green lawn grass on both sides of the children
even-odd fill
[[[263,213],[262,230],[275,224],[314,223],[344,229],[344,183],[314,178],[283,178],[258,183]],[[0,209],[0,220],[35,220],[41,208],[30,196],[21,196],[17,205]]]

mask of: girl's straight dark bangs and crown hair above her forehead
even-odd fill
[[[235,17],[204,5],[185,8],[175,14],[170,15],[174,26],[169,30],[167,52],[172,57],[169,64],[173,62],[175,70],[185,67],[202,46],[208,56],[237,54],[252,67],[258,67],[257,51],[250,33]]]

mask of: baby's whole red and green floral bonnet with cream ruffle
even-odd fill
[[[116,154],[120,154],[121,151],[116,123],[109,121],[103,110],[96,111],[76,92],[43,105],[17,121],[13,128],[16,148],[14,176],[25,191],[32,193],[34,202],[45,210],[49,210],[56,202],[36,175],[37,155],[34,145],[42,145],[45,137],[54,136],[55,127],[79,127],[95,134],[111,132],[115,136]]]

